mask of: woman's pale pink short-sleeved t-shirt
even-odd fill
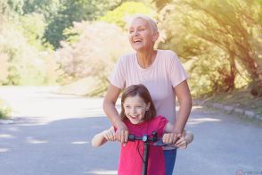
[[[158,50],[155,61],[146,69],[140,67],[135,53],[120,57],[109,79],[113,86],[121,89],[143,84],[151,94],[157,115],[167,117],[174,124],[176,93],[173,87],[187,78],[187,73],[173,51]]]

